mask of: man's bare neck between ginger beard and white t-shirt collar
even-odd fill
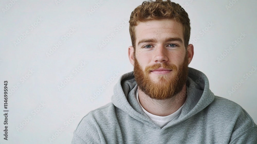
[[[142,107],[151,114],[167,116],[176,112],[186,101],[187,87],[184,85],[182,91],[167,100],[155,100],[138,89],[139,102]]]

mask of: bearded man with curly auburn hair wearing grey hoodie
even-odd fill
[[[145,1],[129,22],[134,71],[121,76],[111,103],[81,120],[71,143],[257,143],[249,114],[188,68],[194,47],[179,4]]]

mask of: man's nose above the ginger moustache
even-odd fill
[[[159,46],[154,51],[154,61],[163,63],[168,61],[168,51],[165,47]]]

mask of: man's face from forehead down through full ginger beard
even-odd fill
[[[158,100],[178,94],[186,84],[191,56],[182,24],[169,19],[140,22],[135,33],[136,50],[132,58],[129,49],[129,57],[139,89]]]

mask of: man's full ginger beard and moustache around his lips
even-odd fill
[[[150,71],[160,67],[172,69],[173,76],[168,78],[167,75],[160,75],[158,76],[158,82],[154,82],[149,76]],[[188,57],[186,55],[179,68],[176,65],[162,63],[147,66],[143,71],[134,56],[134,76],[139,89],[150,98],[156,100],[169,99],[180,93],[186,84],[188,76]]]

